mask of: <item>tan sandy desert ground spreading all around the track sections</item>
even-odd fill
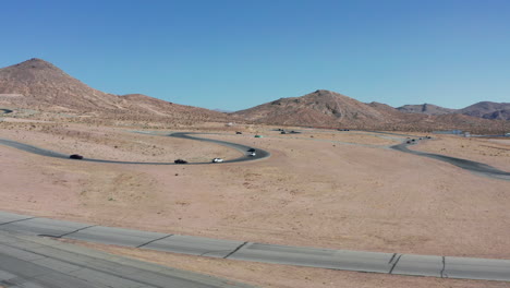
[[[2,209],[275,244],[510,259],[509,181],[388,148],[405,136],[299,128],[288,130],[301,134],[283,135],[276,129],[221,123],[193,129],[216,133],[207,135],[210,139],[271,153],[268,159],[240,164],[97,164],[0,145]],[[240,156],[219,145],[165,136],[178,131],[191,129],[155,131],[8,118],[0,122],[2,139],[88,158],[201,161]],[[413,149],[510,171],[510,141],[433,136]],[[510,287],[87,245],[263,287]]]

